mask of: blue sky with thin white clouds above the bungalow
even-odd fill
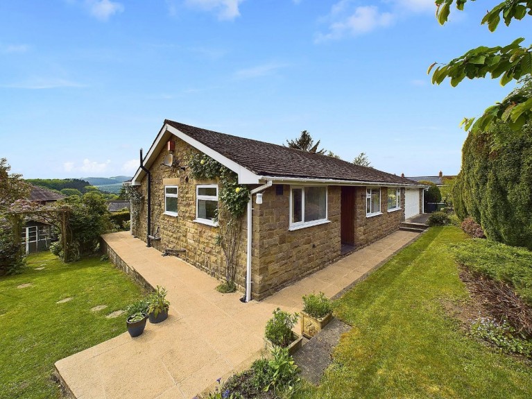
[[[277,144],[308,130],[344,160],[454,174],[459,122],[511,87],[426,71],[526,37],[526,18],[480,26],[497,2],[439,26],[431,0],[1,1],[0,156],[26,178],[131,175],[166,118]]]

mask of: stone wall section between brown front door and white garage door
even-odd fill
[[[366,217],[366,187],[357,187],[354,225],[354,245],[357,248],[371,244],[399,229],[401,222],[404,221],[404,189],[401,189],[400,201],[401,210],[388,212],[388,188],[381,187],[382,214]]]

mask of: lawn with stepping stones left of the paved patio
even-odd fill
[[[25,283],[32,286],[17,289]],[[140,295],[98,258],[64,264],[51,253],[29,256],[24,273],[0,279],[0,398],[59,398],[53,364],[126,331],[123,316],[105,316]],[[96,305],[108,307],[91,312]]]

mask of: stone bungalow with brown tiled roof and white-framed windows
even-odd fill
[[[132,234],[212,275],[225,270],[216,244],[218,180],[191,177],[187,162],[198,153],[237,173],[239,184],[252,190],[237,248],[236,282],[246,300],[260,300],[389,235],[422,206],[418,182],[166,120],[131,180],[142,198],[132,203]]]

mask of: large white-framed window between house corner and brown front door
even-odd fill
[[[291,230],[325,222],[328,222],[327,187],[291,187]]]

